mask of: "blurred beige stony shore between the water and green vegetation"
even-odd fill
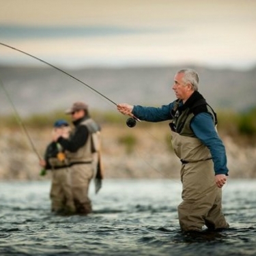
[[[29,129],[40,154],[51,139],[51,128]],[[135,141],[130,145],[128,138]],[[102,128],[105,179],[179,179],[180,160],[173,153],[169,130],[162,126]],[[256,178],[256,146],[239,145],[236,137],[222,137],[231,179]],[[0,130],[0,180],[47,180],[41,177],[38,158],[19,129]]]

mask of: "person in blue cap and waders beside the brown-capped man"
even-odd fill
[[[53,125],[53,137],[56,134],[68,138],[70,126],[66,120],[59,119]],[[57,214],[72,214],[75,212],[72,189],[70,184],[70,169],[68,160],[59,143],[52,141],[46,147],[44,160],[40,165],[45,170],[52,170],[51,210]],[[44,174],[42,174],[44,175]]]

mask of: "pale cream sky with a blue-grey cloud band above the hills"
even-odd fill
[[[0,42],[53,65],[256,65],[254,0],[0,0]],[[0,45],[0,64],[42,65]]]

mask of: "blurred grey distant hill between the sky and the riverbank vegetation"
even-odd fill
[[[160,106],[175,100],[173,76],[183,66],[85,68],[65,70],[115,103]],[[255,106],[256,67],[251,70],[189,66],[199,72],[199,91],[215,109],[244,111]],[[67,109],[83,100],[91,109],[115,110],[115,104],[53,68],[0,66],[0,79],[21,115]],[[0,113],[12,107],[0,90]]]

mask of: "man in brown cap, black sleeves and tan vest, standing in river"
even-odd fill
[[[75,102],[66,114],[71,115],[74,130],[69,139],[59,134],[55,141],[66,150],[70,162],[76,212],[89,214],[92,209],[88,190],[89,183],[94,177],[94,153],[97,151],[93,138],[94,134],[100,132],[100,126],[89,117],[88,106],[84,102]]]

